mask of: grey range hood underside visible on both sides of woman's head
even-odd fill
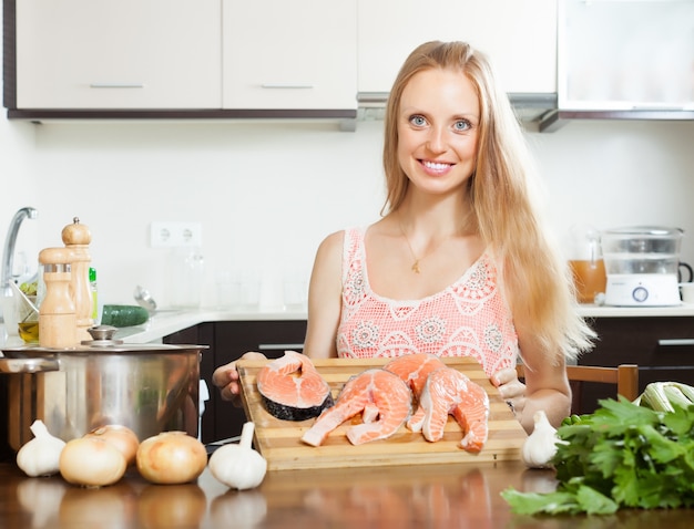
[[[552,115],[557,113],[557,94],[510,93],[508,95],[516,115],[522,123],[537,123],[539,128],[545,122],[554,123]],[[357,94],[357,122],[382,120],[387,101],[387,92],[359,92]]]

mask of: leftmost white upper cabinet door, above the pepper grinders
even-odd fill
[[[220,108],[221,0],[18,0],[18,108]]]

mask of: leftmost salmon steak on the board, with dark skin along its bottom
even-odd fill
[[[317,417],[333,405],[330,386],[305,354],[285,351],[258,371],[258,393],[271,415],[284,421]]]

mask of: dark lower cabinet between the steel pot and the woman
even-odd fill
[[[237,360],[248,351],[277,357],[286,350],[302,352],[306,320],[253,320],[202,323],[171,334],[166,343],[208,345],[201,360],[201,377],[210,388],[202,419],[202,440],[211,443],[241,435],[246,417],[243,408],[223,401],[212,384],[212,373],[220,365]]]

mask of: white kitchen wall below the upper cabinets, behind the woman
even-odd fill
[[[63,226],[80,217],[92,231],[106,302],[132,302],[140,283],[165,305],[177,257],[150,248],[150,222],[197,220],[205,304],[220,301],[215,282],[233,270],[257,272],[264,303],[279,307],[285,272],[307,277],[323,237],[376,219],[382,203],[380,122],[360,123],[356,133],[258,122],[2,126],[14,144],[1,147],[6,187],[24,175],[34,189],[3,204],[3,217],[20,203],[37,207],[39,248],[60,245]],[[581,222],[694,234],[693,123],[571,122],[529,137],[559,238]],[[694,259],[691,237],[683,253]]]

